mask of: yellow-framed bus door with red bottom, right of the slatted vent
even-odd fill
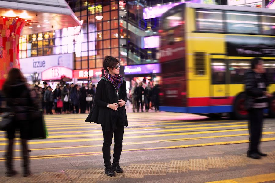
[[[222,55],[218,58],[212,55],[210,67],[210,105],[230,105],[228,60]]]

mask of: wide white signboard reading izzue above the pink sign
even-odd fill
[[[73,69],[73,53],[61,55],[37,56],[20,59],[20,70],[23,74],[32,74],[34,72],[42,73],[44,70],[55,66]]]

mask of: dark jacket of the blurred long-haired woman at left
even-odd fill
[[[29,109],[34,105],[30,90],[22,81],[16,81],[12,85],[4,85],[4,94],[7,97],[7,106],[15,113],[16,121],[29,121]],[[24,123],[24,125],[28,125]]]

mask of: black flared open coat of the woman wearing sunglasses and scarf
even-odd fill
[[[105,127],[106,131],[111,128],[114,130],[116,126],[128,126],[128,119],[125,110],[125,106],[118,107],[117,111],[107,107],[107,104],[118,103],[118,100],[122,99],[125,102],[127,98],[126,82],[123,80],[123,84],[117,91],[115,86],[105,78],[102,78],[97,84],[97,90],[94,97],[95,105],[92,108],[85,122],[94,122],[101,124]]]

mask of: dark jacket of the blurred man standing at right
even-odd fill
[[[264,80],[266,87],[268,87],[270,83],[266,73],[262,74],[262,79]],[[245,94],[246,94],[245,108],[247,110],[252,108],[256,97],[262,97],[264,95],[264,91],[258,88],[259,82],[260,81],[258,81],[258,79],[256,78],[256,73],[253,70],[249,70],[244,75]]]

